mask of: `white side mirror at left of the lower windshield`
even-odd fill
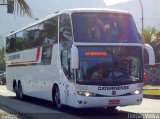
[[[79,69],[78,48],[73,44],[71,48],[71,69]]]

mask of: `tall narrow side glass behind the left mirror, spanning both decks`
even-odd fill
[[[67,14],[60,15],[59,42],[61,53],[61,65],[64,74],[68,79],[72,79],[73,76],[70,68],[70,48],[72,45],[72,29],[70,16]]]

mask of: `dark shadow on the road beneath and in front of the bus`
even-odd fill
[[[15,97],[11,97],[15,98]],[[32,103],[35,105],[43,106],[45,108],[49,108],[52,110],[56,110],[54,104],[50,101],[26,97],[25,102]],[[143,115],[139,113],[132,113],[126,111],[119,110],[107,110],[106,108],[87,108],[87,109],[75,109],[71,107],[65,107],[64,110],[60,111],[60,113],[41,113],[41,114],[30,114],[33,117],[39,116],[43,119],[47,117],[47,119],[143,119]]]

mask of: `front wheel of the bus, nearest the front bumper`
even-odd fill
[[[59,110],[61,110],[63,108],[63,105],[61,104],[61,97],[60,97],[60,91],[58,86],[55,87],[54,101],[55,101],[56,107]]]

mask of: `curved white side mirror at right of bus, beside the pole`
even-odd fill
[[[149,65],[155,65],[155,54],[153,48],[149,44],[144,44],[143,52],[144,63]]]

